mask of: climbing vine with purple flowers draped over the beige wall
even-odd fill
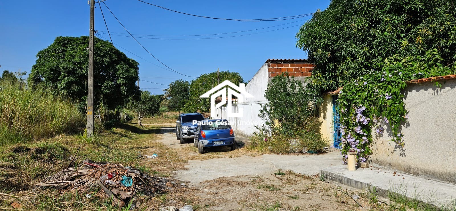
[[[444,66],[441,61],[436,50],[428,51],[423,57],[393,57],[376,65],[368,74],[344,84],[337,99],[344,162],[350,148],[357,150],[359,162],[366,162],[372,154],[373,135],[382,136],[386,127],[392,132],[391,141],[404,147],[404,134],[400,129],[408,116],[403,90],[413,79],[456,73],[456,66]],[[441,86],[438,82],[435,85]]]

